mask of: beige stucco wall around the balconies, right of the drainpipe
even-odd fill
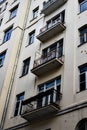
[[[24,1],[23,1],[24,2]],[[25,8],[21,4],[20,10]],[[53,79],[59,75],[61,75],[61,93],[62,99],[60,101],[61,110],[67,107],[73,106],[75,104],[86,101],[87,91],[83,91],[79,93],[79,69],[78,66],[86,63],[87,56],[87,46],[86,44],[78,47],[80,44],[79,40],[79,31],[78,29],[86,24],[87,15],[86,12],[79,14],[79,3],[76,0],[68,0],[66,4],[64,4],[61,8],[57,9],[55,12],[50,14],[47,17],[44,17],[43,14],[40,14],[42,9],[42,3],[44,0],[32,0],[30,11],[27,19],[26,30],[24,33],[20,58],[17,66],[17,71],[14,79],[13,89],[11,93],[11,98],[8,106],[8,112],[6,117],[6,122],[4,128],[14,127],[18,124],[26,122],[20,116],[14,117],[13,111],[16,101],[16,95],[25,92],[25,99],[32,97],[37,93],[37,86],[41,83],[44,83],[50,79]],[[24,2],[25,3],[25,2]],[[39,6],[39,14],[38,17],[32,20],[32,10]],[[34,44],[28,45],[28,34],[35,30],[35,36],[39,34],[39,30],[46,25],[46,21],[65,10],[65,26],[66,29],[61,34],[54,36],[49,41],[45,43],[41,43],[39,40],[35,38]],[[18,19],[16,24],[19,24],[19,20],[21,13],[18,14]],[[24,14],[23,14],[24,16]],[[18,23],[17,23],[18,22]],[[20,22],[20,26],[22,27],[23,23]],[[15,32],[15,36],[16,36]],[[63,54],[64,54],[64,64],[58,68],[54,69],[51,72],[41,75],[40,77],[35,76],[31,73],[31,69],[33,68],[33,63],[36,58],[36,54],[38,52],[42,52],[43,48],[48,47],[54,42],[64,39],[63,44]],[[14,41],[14,40],[13,40]],[[16,41],[15,41],[16,43]],[[14,45],[15,46],[15,45]],[[12,46],[13,47],[13,46]],[[12,49],[11,49],[12,50]],[[13,51],[15,53],[15,49]],[[14,56],[13,53],[13,56]],[[26,58],[31,57],[30,67],[28,75],[21,77],[21,69],[22,62]],[[13,59],[13,57],[11,57]],[[10,59],[11,60],[11,59]],[[8,81],[8,78],[7,78]],[[7,85],[7,82],[5,82]],[[76,124],[82,118],[87,117],[86,109],[77,110],[71,113],[67,113],[62,116],[57,116],[56,118],[52,118],[50,120],[46,120],[45,122],[39,122],[37,124],[32,124],[29,127],[23,128],[23,130],[45,130],[47,128],[52,128],[52,130],[75,130]],[[22,128],[21,128],[22,129]]]

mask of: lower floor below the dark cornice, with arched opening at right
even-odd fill
[[[14,125],[4,130],[87,130],[87,104],[85,107],[72,107],[60,111],[49,119],[39,119],[36,122],[26,122]]]

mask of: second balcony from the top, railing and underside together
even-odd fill
[[[55,35],[58,35],[65,29],[66,27],[64,23],[60,20],[60,18],[58,18],[55,21],[52,21],[49,25],[47,24],[45,27],[40,29],[40,33],[37,36],[37,39],[39,39],[41,42],[45,42]]]

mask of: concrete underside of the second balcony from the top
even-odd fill
[[[45,42],[55,35],[61,33],[65,30],[65,26],[62,23],[57,23],[56,25],[52,26],[51,28],[47,29],[46,31],[40,33],[37,36],[37,39],[39,39],[41,42]]]

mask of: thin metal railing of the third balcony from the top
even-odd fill
[[[55,58],[59,58],[62,61],[62,49],[61,48],[58,48],[58,49],[60,51],[55,49],[53,51],[48,52],[46,56],[42,55],[39,59],[35,60],[33,68],[36,68],[42,64],[45,64]]]

